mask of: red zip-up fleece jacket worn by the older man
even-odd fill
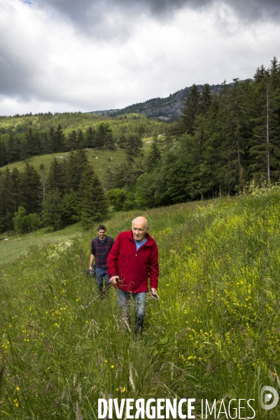
[[[120,277],[118,288],[132,293],[148,292],[150,287],[158,288],[158,246],[148,233],[146,244],[136,251],[132,230],[118,235],[108,259],[108,275]]]

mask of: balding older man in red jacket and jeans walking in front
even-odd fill
[[[137,217],[132,221],[132,230],[118,235],[108,259],[110,283],[116,288],[118,306],[123,320],[130,325],[130,295],[134,300],[134,330],[143,330],[148,280],[151,292],[158,289],[158,246],[148,235],[148,221]],[[120,281],[116,281],[116,279]]]

